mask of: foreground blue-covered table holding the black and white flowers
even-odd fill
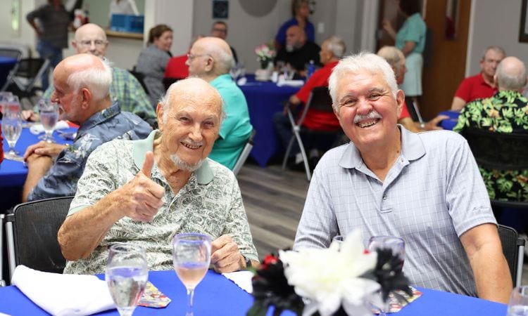
[[[101,279],[103,275],[98,275]],[[185,315],[186,292],[174,271],[151,271],[149,281],[172,301],[166,308],[154,309],[139,306],[134,311],[140,315]],[[422,296],[404,307],[397,316],[408,315],[506,315],[506,305],[458,294],[422,289]],[[0,312],[9,315],[48,315],[32,303],[17,287],[0,288]],[[246,315],[253,298],[229,279],[208,271],[194,293],[195,316]],[[272,310],[268,311],[271,315]],[[118,315],[117,310],[108,310],[96,315]],[[294,315],[283,312],[282,315]]]

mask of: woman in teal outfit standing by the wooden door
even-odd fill
[[[412,98],[413,102],[418,105],[418,97],[422,96],[422,67],[424,64],[422,53],[425,47],[427,26],[420,15],[420,0],[401,0],[398,9],[406,17],[398,33],[388,20],[383,21],[383,28],[396,41],[394,46],[406,56],[407,74],[400,88],[406,97]]]

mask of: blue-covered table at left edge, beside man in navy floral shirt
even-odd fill
[[[1,121],[0,121],[1,123]],[[61,131],[75,131],[75,128],[63,129]],[[22,129],[20,133],[20,138],[15,145],[15,150],[23,155],[26,148],[32,144],[38,143],[39,136],[44,135],[44,133],[39,135],[34,135],[30,132],[30,129]],[[71,144],[72,140],[66,140],[65,138],[59,136],[57,131],[54,131],[54,140],[60,144]],[[4,152],[7,152],[9,149],[7,140],[4,138],[3,144]],[[10,194],[0,195],[0,212],[9,209],[16,204],[20,203],[20,192],[21,188],[24,185],[25,178],[27,176],[27,167],[24,166],[23,162],[15,162],[13,160],[4,159],[4,162],[0,165],[0,190],[2,192],[10,192]]]

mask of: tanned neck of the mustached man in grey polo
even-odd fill
[[[394,140],[383,144],[368,145],[365,148],[358,148],[358,150],[368,169],[383,182],[401,154],[400,129],[397,129],[397,133],[394,134]]]

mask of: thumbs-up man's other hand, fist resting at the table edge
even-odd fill
[[[231,236],[222,235],[211,243],[210,263],[218,273],[233,272],[246,268],[246,259]]]

